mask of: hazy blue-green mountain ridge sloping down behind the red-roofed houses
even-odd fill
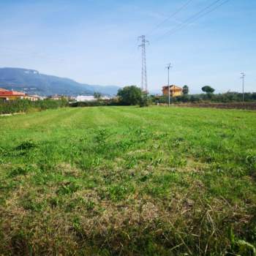
[[[93,95],[99,92],[104,95],[117,94],[118,86],[97,86],[78,83],[69,78],[59,78],[53,75],[44,75],[34,69],[0,68],[0,88],[24,91],[27,94],[48,96],[59,95]]]

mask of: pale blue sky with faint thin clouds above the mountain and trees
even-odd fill
[[[256,1],[230,0],[189,23],[214,0],[0,0],[0,67],[24,67],[81,83],[140,86],[138,36],[146,34],[148,86],[187,84],[193,93],[210,85],[217,92],[256,91]],[[224,0],[220,0],[224,1]]]

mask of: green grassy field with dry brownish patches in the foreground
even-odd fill
[[[0,117],[0,255],[254,255],[256,112]]]

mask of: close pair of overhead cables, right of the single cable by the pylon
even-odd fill
[[[217,8],[226,4],[230,0],[223,1],[222,3],[218,4],[219,1],[221,1],[221,0],[216,0],[216,1],[212,2],[211,4],[209,4],[207,7],[200,10],[199,12],[196,12],[195,15],[192,15],[189,18],[187,18],[187,20],[185,20],[183,24],[171,29],[170,31],[168,31],[167,33],[165,33],[164,35],[162,35],[161,37],[156,39],[155,42],[158,41],[159,39],[161,39],[162,37],[176,33],[176,31],[179,31],[179,30],[183,29],[184,27],[188,26],[189,23],[195,22],[196,20],[202,18],[203,16],[208,15],[210,12],[217,10]]]

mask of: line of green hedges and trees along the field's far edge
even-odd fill
[[[211,86],[203,86],[204,94],[189,94],[189,87],[183,87],[183,94],[178,97],[170,97],[170,103],[200,103],[200,102],[242,102],[243,94],[238,92],[227,92],[225,94],[214,94],[214,89]],[[0,114],[5,113],[20,113],[41,111],[50,108],[63,107],[92,107],[92,106],[118,106],[118,105],[139,105],[146,107],[150,104],[166,104],[168,102],[167,96],[148,95],[137,86],[125,86],[119,89],[117,97],[113,99],[101,99],[101,94],[95,93],[94,102],[68,102],[67,99],[53,100],[44,99],[36,102],[31,102],[28,99],[17,99],[10,101],[0,100]],[[256,101],[255,93],[245,93],[245,102]]]

